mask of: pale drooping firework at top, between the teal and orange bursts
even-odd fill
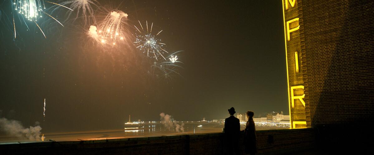
[[[87,22],[90,21],[90,18],[92,18],[92,20],[96,22],[92,6],[99,7],[98,6],[99,2],[97,0],[59,0],[59,2],[61,5],[66,5],[66,6],[69,5],[71,9],[77,11],[74,21],[81,14],[83,16],[83,21],[85,25],[87,24]],[[56,9],[58,9],[58,7],[53,9],[53,11],[55,11]],[[70,18],[72,13],[73,12],[68,13],[68,17],[66,18],[66,20]]]

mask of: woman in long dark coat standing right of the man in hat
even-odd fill
[[[255,122],[253,121],[253,111],[247,111],[248,121],[245,125],[244,130],[244,143],[245,143],[245,153],[254,155],[257,152],[256,149],[256,128],[255,128]]]

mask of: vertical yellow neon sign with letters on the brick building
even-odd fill
[[[287,66],[288,105],[291,128],[306,127],[305,107],[308,102],[304,100],[303,74],[299,74],[300,38],[295,33],[300,31],[297,0],[282,0],[283,23],[285,31],[285,50]],[[288,47],[287,44],[290,46]],[[289,52],[287,52],[289,50]],[[294,59],[292,57],[294,56]],[[288,59],[290,57],[291,59]],[[301,57],[300,57],[301,59]],[[302,63],[302,61],[300,61]],[[289,66],[290,65],[290,66]]]

